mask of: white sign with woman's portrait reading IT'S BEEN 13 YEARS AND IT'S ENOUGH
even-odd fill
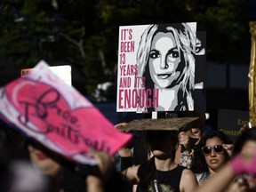
[[[192,111],[197,44],[196,22],[121,26],[116,111]]]

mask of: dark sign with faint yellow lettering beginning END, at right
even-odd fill
[[[218,130],[228,135],[233,142],[239,135],[239,129],[248,124],[249,112],[242,110],[219,109]]]

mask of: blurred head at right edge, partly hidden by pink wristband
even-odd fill
[[[238,136],[232,156],[236,156],[238,154],[245,158],[256,156],[256,127],[247,129]],[[251,191],[256,190],[256,177],[246,174],[244,175],[244,180],[247,182]]]

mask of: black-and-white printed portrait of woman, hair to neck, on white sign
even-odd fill
[[[192,24],[154,24],[140,37],[137,78],[144,81],[138,90],[144,89],[147,97],[138,104],[138,112],[193,110],[196,28]]]

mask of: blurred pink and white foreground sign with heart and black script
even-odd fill
[[[95,164],[90,148],[111,155],[132,137],[119,132],[89,100],[41,61],[33,73],[0,90],[0,117],[46,148],[83,164]]]

